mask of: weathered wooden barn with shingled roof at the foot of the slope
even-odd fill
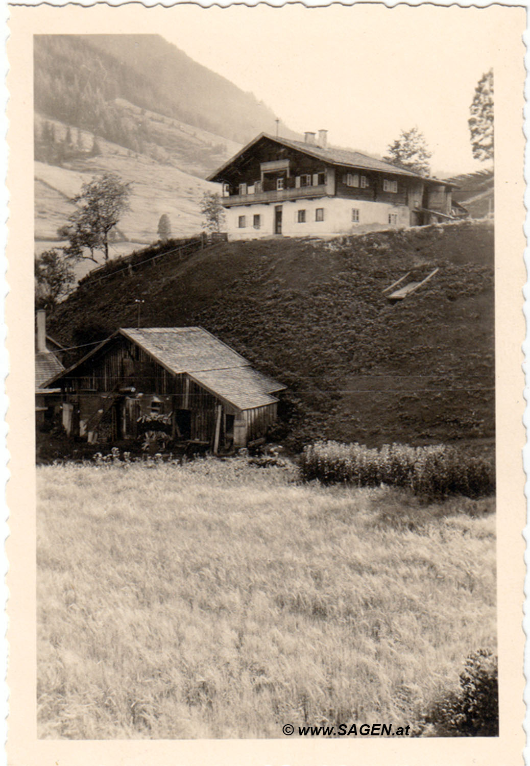
[[[267,434],[285,388],[201,327],[119,329],[50,385],[74,437],[135,439],[140,423],[156,421],[214,452]]]

